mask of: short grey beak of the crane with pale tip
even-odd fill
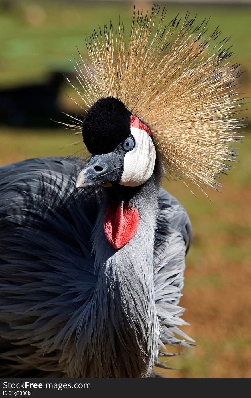
[[[93,155],[77,176],[75,187],[84,188],[106,182],[119,182],[122,172],[123,166],[118,162],[116,153]]]

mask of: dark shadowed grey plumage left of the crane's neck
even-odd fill
[[[46,158],[0,169],[1,375],[63,371],[57,350],[45,348],[96,284],[89,240],[98,199],[74,189],[77,167]]]

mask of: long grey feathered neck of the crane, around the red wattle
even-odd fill
[[[125,197],[124,188],[117,195]],[[115,195],[112,189],[109,194]],[[153,175],[143,187],[129,194],[128,203],[138,210],[140,222],[130,242],[119,250],[109,244],[103,233],[109,197],[100,209],[92,237],[99,274],[90,309],[93,340],[88,349],[90,373],[96,369],[96,377],[144,377],[157,360],[153,244],[158,192],[159,183]],[[98,363],[103,369],[98,368]]]

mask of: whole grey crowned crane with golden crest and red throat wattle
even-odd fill
[[[92,67],[76,65],[87,111],[68,125],[85,165],[0,170],[2,375],[148,377],[161,347],[192,344],[177,305],[190,221],[161,182],[218,188],[239,72],[218,30],[164,18],[134,12],[127,44],[121,23],[87,42]]]

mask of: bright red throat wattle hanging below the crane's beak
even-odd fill
[[[138,229],[139,215],[134,207],[123,204],[109,205],[104,215],[104,232],[115,249],[128,243]]]

